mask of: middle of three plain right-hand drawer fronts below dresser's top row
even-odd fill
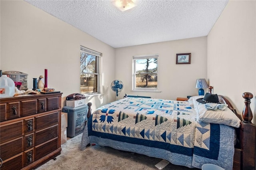
[[[58,136],[58,124],[36,132],[36,145]]]

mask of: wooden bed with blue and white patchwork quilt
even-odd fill
[[[246,105],[240,117],[224,96],[218,95],[220,103],[228,107],[224,111],[205,110],[205,105],[196,101],[202,97],[194,96],[188,101],[127,97],[92,114],[92,103],[88,103],[82,147],[95,143],[189,168],[211,163],[225,170],[254,169],[252,94],[243,94]]]

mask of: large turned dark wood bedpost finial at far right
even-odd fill
[[[252,93],[250,92],[244,92],[242,94],[242,97],[244,98],[244,110],[243,110],[243,121],[246,123],[252,123],[252,110],[250,108],[251,99],[253,97]]]

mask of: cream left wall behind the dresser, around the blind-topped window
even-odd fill
[[[81,32],[24,1],[0,1],[1,58],[3,71],[28,73],[28,88],[33,79],[48,69],[48,87],[66,96],[80,93],[80,45],[101,52],[100,91],[104,96],[87,98],[92,108],[114,100],[108,87],[115,77],[115,49]],[[104,75],[103,75],[104,73]]]

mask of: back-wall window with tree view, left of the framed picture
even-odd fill
[[[133,90],[158,91],[158,55],[133,57]]]

